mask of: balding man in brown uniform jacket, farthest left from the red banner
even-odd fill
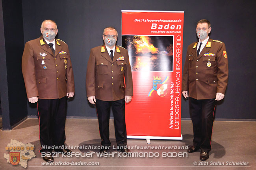
[[[22,56],[22,73],[28,101],[37,102],[40,153],[47,162],[54,161],[52,149],[70,154],[65,147],[67,97],[74,96],[74,75],[67,44],[55,39],[57,25],[45,20],[42,36],[28,41]]]

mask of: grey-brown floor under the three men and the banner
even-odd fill
[[[145,139],[128,139],[128,146],[173,146],[173,149],[132,149],[132,152],[151,152],[154,157],[120,157],[115,151],[115,132],[113,120],[110,120],[111,153],[110,157],[55,157],[54,163],[78,163],[86,162],[98,164],[96,166],[66,166],[66,165],[42,165],[45,163],[39,154],[39,124],[38,119],[26,119],[11,131],[0,130],[0,170],[23,170],[20,165],[13,166],[7,163],[4,153],[9,152],[5,147],[11,139],[24,144],[35,145],[35,155],[28,161],[27,170],[252,170],[256,169],[256,122],[241,121],[215,121],[213,126],[212,150],[210,158],[202,162],[199,159],[200,152],[184,154],[185,157],[163,157],[165,152],[186,153],[186,149],[174,149],[175,146],[187,146],[192,144],[193,127],[191,121],[182,121],[182,141],[151,140],[147,144]],[[136,126],[136,125],[134,125]],[[98,120],[96,119],[67,119],[66,144],[69,146],[99,146],[100,135],[98,132]],[[115,145],[115,146],[113,146]],[[97,152],[97,149],[73,149],[73,152]],[[157,154],[159,156],[157,157]],[[122,156],[122,155],[121,155]],[[142,155],[141,155],[142,156]],[[245,166],[226,165],[227,163],[248,163]],[[223,163],[224,165],[218,165]],[[208,164],[208,165],[207,165]],[[217,164],[217,165],[213,165]]]

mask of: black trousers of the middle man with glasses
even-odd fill
[[[115,125],[115,140],[117,146],[126,146],[126,125],[125,125],[125,115],[124,115],[124,99],[118,101],[101,101],[96,99],[96,111],[98,115],[101,145],[111,146],[109,141],[109,116],[110,116],[110,106],[114,115],[114,125]]]

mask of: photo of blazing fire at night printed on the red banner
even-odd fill
[[[173,37],[122,36],[133,71],[172,71]]]

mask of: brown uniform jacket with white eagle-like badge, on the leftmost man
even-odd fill
[[[60,99],[74,92],[74,75],[67,44],[55,40],[52,50],[41,36],[26,42],[22,55],[22,73],[28,98]]]

